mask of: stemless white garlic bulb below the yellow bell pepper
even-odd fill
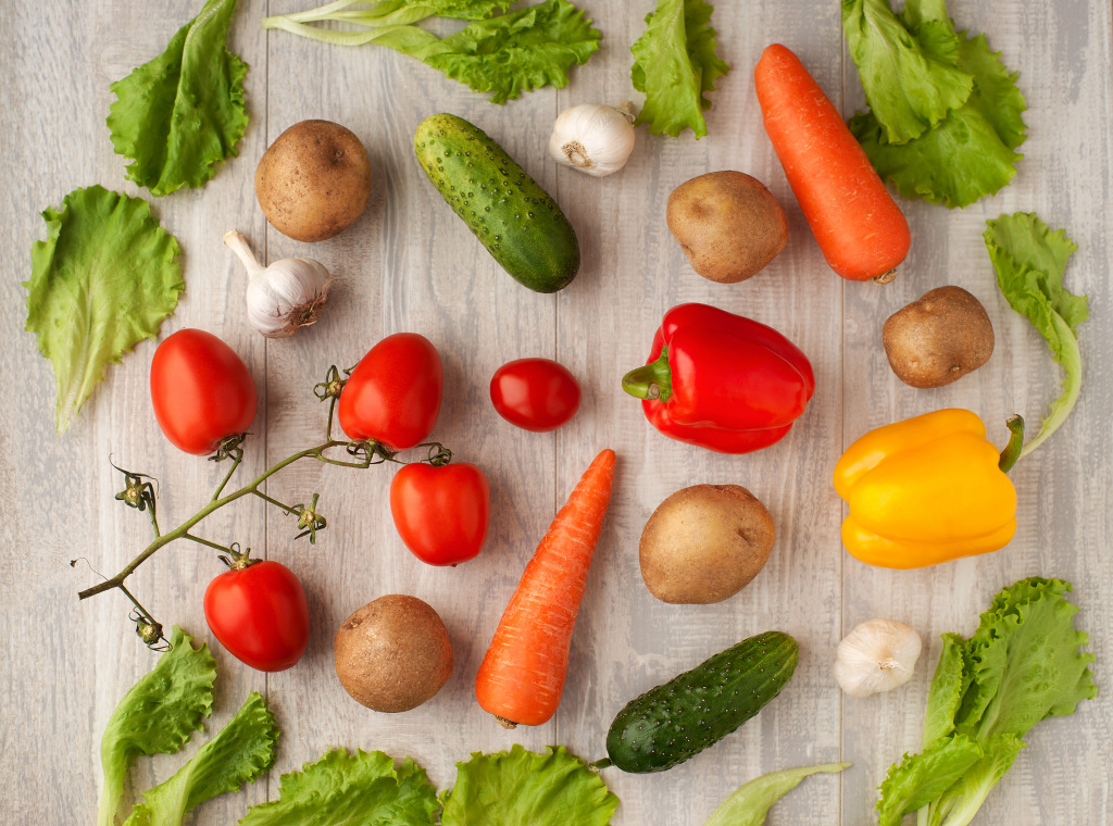
[[[912,679],[919,635],[904,622],[871,619],[856,626],[835,655],[835,679],[851,697],[888,691]]]

